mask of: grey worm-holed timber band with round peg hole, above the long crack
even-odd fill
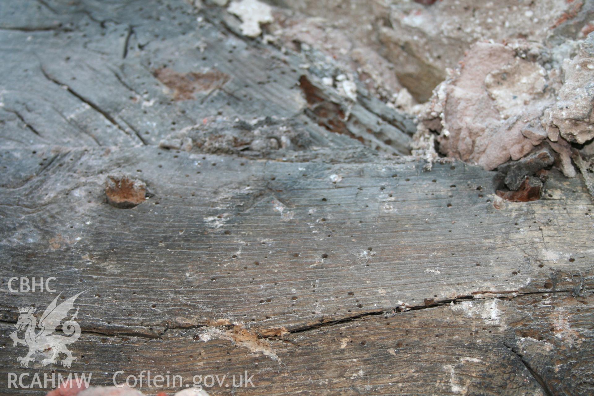
[[[38,164],[44,156],[49,166]],[[563,207],[497,209],[492,174],[459,163],[425,172],[406,160],[288,163],[148,147],[2,154],[9,170],[30,161],[43,172],[9,177],[2,191],[12,219],[4,276],[68,273],[61,287],[92,287],[80,302],[102,301],[87,315],[100,312],[93,326],[114,331],[217,319],[293,330],[425,299],[544,291],[560,270],[592,273],[591,234],[563,232],[592,224],[578,180]],[[153,197],[131,210],[106,205],[112,174],[142,179]],[[4,315],[33,298],[7,293]]]

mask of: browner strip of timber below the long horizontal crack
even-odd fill
[[[227,375],[227,383],[254,375],[254,388],[235,394],[588,394],[593,302],[591,292],[465,300],[257,340],[233,327],[159,338],[87,333],[73,344],[81,356],[73,369],[93,373],[97,385],[112,385],[118,370],[118,383],[141,370],[180,375],[182,385],[195,375]]]

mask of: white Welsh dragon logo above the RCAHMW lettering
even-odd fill
[[[77,319],[78,315],[78,304],[76,312],[72,317],[62,322],[62,319],[67,318],[68,311],[74,308],[74,301],[77,299],[80,292],[70,297],[60,305],[57,304],[58,298],[62,293],[58,294],[52,303],[46,308],[45,312],[41,316],[39,325],[37,325],[37,319],[33,316],[35,309],[33,307],[19,308],[20,316],[15,324],[17,331],[13,331],[10,334],[12,338],[13,346],[17,344],[26,345],[29,347],[29,353],[24,357],[17,357],[18,361],[21,362],[21,366],[29,367],[29,362],[34,360],[33,354],[36,351],[52,351],[52,356],[49,359],[43,359],[42,365],[47,366],[52,363],[56,363],[60,353],[66,355],[66,359],[62,359],[62,366],[69,368],[74,360],[78,360],[72,356],[71,351],[66,347],[69,344],[74,343],[80,337],[80,326],[74,319]],[[62,324],[62,332],[66,335],[53,334],[58,331],[57,327]],[[39,328],[39,331],[36,331]],[[18,338],[17,332],[25,330],[25,338],[21,340]]]

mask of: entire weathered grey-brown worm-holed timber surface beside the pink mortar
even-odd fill
[[[213,9],[1,7],[2,394],[23,394],[7,372],[52,369],[96,385],[118,369],[248,370],[256,388],[235,393],[251,394],[592,393],[594,207],[579,179],[551,172],[545,199],[501,202],[492,172],[378,153],[368,146],[403,152],[404,116],[362,88],[343,99],[305,55],[244,39]],[[173,100],[163,66],[230,78]],[[303,75],[323,110],[351,113],[340,134]],[[299,144],[158,147],[266,116]],[[150,198],[106,204],[107,176],[122,174]],[[40,354],[18,366],[17,308],[55,294],[8,292],[13,276],[86,290],[71,369]]]

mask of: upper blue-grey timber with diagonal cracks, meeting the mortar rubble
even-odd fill
[[[3,129],[2,144],[159,144],[170,132],[211,116],[307,123],[299,87],[299,77],[308,74],[299,66],[302,55],[284,54],[216,28],[182,1],[145,3],[57,3],[54,12],[34,0],[20,2],[22,9],[11,5],[15,9],[5,14],[4,24],[31,26],[0,28],[4,53],[15,59],[2,69],[0,120],[10,126]],[[55,27],[18,22],[30,14],[43,15]],[[221,87],[195,90],[189,96],[194,100],[179,100],[155,77],[164,67],[228,77]],[[353,113],[347,121],[353,134],[365,135],[391,153],[408,150],[410,137],[400,129],[410,133],[413,126],[405,116],[371,98],[347,103],[336,94],[327,96],[343,113]],[[11,132],[15,129],[21,132]],[[317,145],[353,144],[324,128],[311,125],[308,130]],[[374,135],[390,138],[393,147]]]

